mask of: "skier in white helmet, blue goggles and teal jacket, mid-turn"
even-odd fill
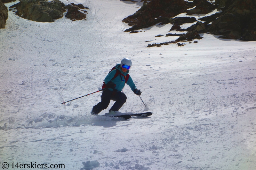
[[[116,115],[116,112],[124,105],[127,99],[124,91],[121,92],[125,83],[131,87],[135,94],[138,96],[141,94],[140,90],[136,88],[132,78],[128,74],[131,66],[132,61],[129,58],[124,58],[120,64],[116,64],[116,66],[108,73],[102,86],[102,88],[106,87],[106,90],[102,92],[101,102],[92,107],[91,115],[97,115],[102,110],[107,109],[110,100],[116,102],[109,109],[108,115]]]

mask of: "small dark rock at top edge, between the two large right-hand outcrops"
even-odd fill
[[[196,7],[192,10],[188,10],[187,15],[208,14],[209,12],[212,12],[212,10],[215,10],[217,8],[214,4],[211,4],[206,0],[194,0],[193,3],[194,5],[196,5]]]

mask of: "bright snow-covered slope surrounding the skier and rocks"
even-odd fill
[[[121,20],[142,3],[72,2],[89,8],[85,21],[39,23],[9,11],[0,29],[1,164],[90,169],[90,160],[94,169],[109,170],[255,169],[255,42],[205,33],[197,44],[146,48],[176,39],[156,35],[180,32],[168,32],[167,24],[125,33],[129,26]],[[130,75],[148,109],[126,85],[120,112],[152,116],[90,116],[100,92],[60,105],[97,91],[124,57],[132,60]]]

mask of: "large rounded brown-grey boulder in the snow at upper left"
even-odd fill
[[[52,0],[51,2],[45,0],[19,1],[10,8],[17,8],[16,15],[32,21],[53,22],[54,19],[62,18],[63,12],[66,11],[65,5],[59,0]]]

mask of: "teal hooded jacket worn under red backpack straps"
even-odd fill
[[[119,70],[124,76],[126,76],[129,73],[129,70],[127,70],[126,72],[123,72],[120,68],[120,64],[116,65],[116,69]],[[107,77],[104,80],[105,83],[108,84],[108,82],[115,76],[115,74],[116,74],[116,70],[112,70],[110,73],[108,73]],[[121,92],[122,89],[124,88],[124,83],[125,83],[124,76],[121,75],[123,81],[120,78],[120,74],[116,78],[111,80],[113,83],[116,84],[115,89],[118,92]],[[127,85],[129,85],[131,87],[132,91],[134,91],[134,89],[137,89],[136,86],[134,85],[130,75],[129,75],[129,79],[127,81]],[[113,91],[113,89],[108,89],[108,90]]]

